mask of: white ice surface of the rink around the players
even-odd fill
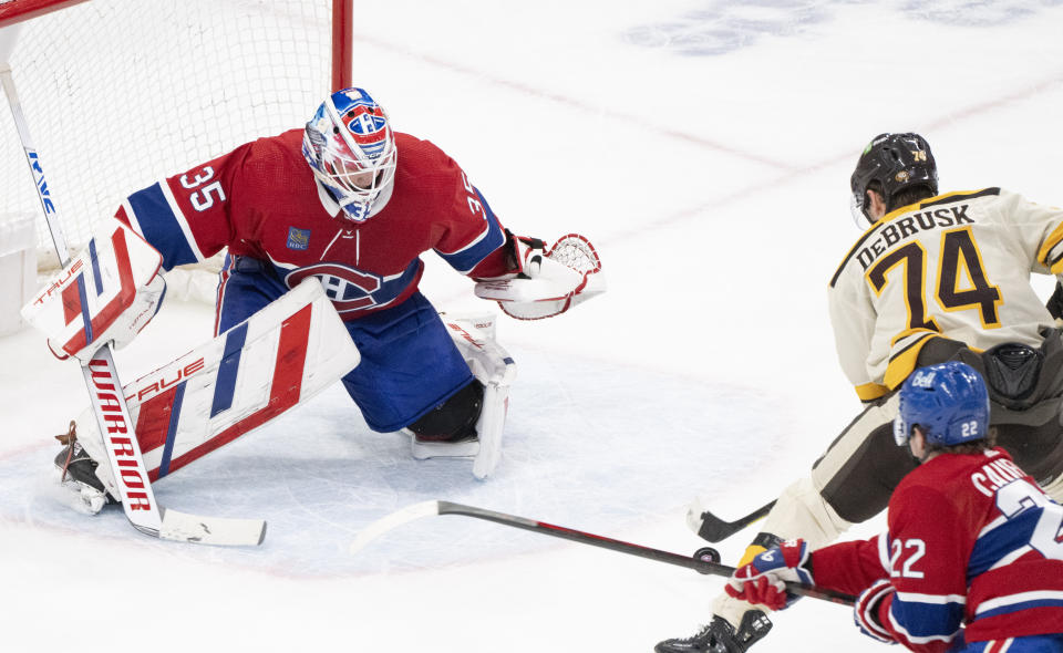
[[[773,498],[859,410],[825,303],[858,237],[859,149],[918,131],[943,189],[1059,204],[1060,4],[360,6],[359,84],[514,230],[590,237],[609,292],[554,320],[499,318],[519,371],[486,483],[467,463],[413,460],[336,387],[156,486],[179,510],[267,519],[254,550],[158,542],[115,510],[58,505],[50,436],[84,405],[80,375],[35,333],[0,339],[0,649],[637,652],[692,633],[718,579],[462,517],[347,547],[392,510],[447,499],[692,552],[695,495],[724,517]],[[484,308],[426,262],[438,308]],[[123,377],[210,324],[168,303],[118,352]],[[879,646],[845,609],[805,600],[755,650]]]

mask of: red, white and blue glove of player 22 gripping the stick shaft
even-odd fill
[[[724,589],[734,599],[782,610],[798,598],[786,591],[787,582],[813,584],[809,556],[808,542],[786,540],[734,570]]]

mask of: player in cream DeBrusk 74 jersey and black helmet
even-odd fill
[[[999,444],[1063,497],[1063,340],[1057,315],[1030,284],[1031,272],[1063,272],[1063,210],[1000,188],[939,194],[918,134],[876,136],[850,186],[854,216],[869,228],[828,292],[842,369],[866,407],[778,497],[740,566],[784,539],[822,547],[885,509],[916,466],[892,440],[896,391],[915,369],[945,361],[982,373]],[[722,594],[709,626],[657,651],[741,653],[770,628],[763,613]]]

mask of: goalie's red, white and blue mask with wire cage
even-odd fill
[[[362,89],[338,91],[321,103],[303,132],[302,156],[350,220],[368,219],[391,195],[395,135]]]

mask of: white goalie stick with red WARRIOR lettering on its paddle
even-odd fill
[[[29,126],[22,114],[7,56],[0,58],[0,84],[3,85],[8,97],[16,129],[19,133],[22,149],[25,152],[25,160],[35,182],[37,195],[41,200],[55,253],[59,256],[60,266],[65,267],[70,262],[66,238],[59,221],[55,203],[44,182],[40,157],[30,138]],[[84,283],[83,278],[75,281]],[[117,481],[118,494],[122,495],[120,497],[122,509],[133,528],[152,537],[182,542],[224,546],[250,546],[262,542],[266,537],[266,522],[260,519],[200,517],[167,510],[159,506],[155,501],[147,468],[134,433],[133,421],[130,418],[130,410],[122,393],[111,344],[106,343],[100,348],[92,360],[81,366],[81,371],[89,388],[100,434],[104,438],[107,462]]]

